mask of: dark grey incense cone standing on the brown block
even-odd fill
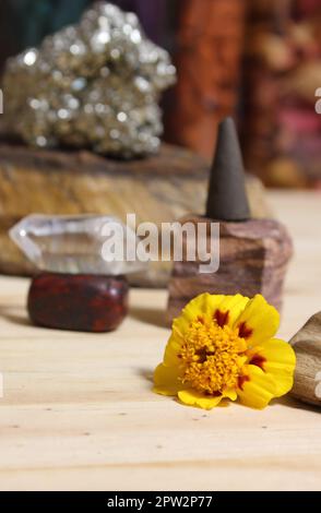
[[[211,168],[206,217],[241,222],[251,217],[245,184],[243,162],[235,122],[225,118],[218,127]]]

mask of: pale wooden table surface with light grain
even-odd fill
[[[321,193],[271,194],[294,236],[281,335],[321,309]],[[0,278],[0,489],[321,489],[321,409],[203,411],[151,392],[166,293],[133,290],[112,334],[36,329],[28,281]]]

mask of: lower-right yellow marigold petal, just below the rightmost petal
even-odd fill
[[[276,396],[274,380],[255,366],[247,366],[247,373],[249,380],[237,391],[239,399],[246,406],[263,409]]]

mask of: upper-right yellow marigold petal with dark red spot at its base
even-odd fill
[[[280,313],[258,294],[251,299],[235,323],[250,346],[272,338],[280,326]]]

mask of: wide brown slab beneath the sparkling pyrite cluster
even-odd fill
[[[197,154],[163,145],[159,155],[121,162],[90,152],[39,151],[0,144],[0,272],[31,275],[35,269],[10,241],[8,229],[32,214],[112,214],[126,222],[176,220],[205,211],[210,164]],[[247,181],[252,214],[269,212],[260,181]],[[132,278],[166,286],[171,264],[153,263]]]

